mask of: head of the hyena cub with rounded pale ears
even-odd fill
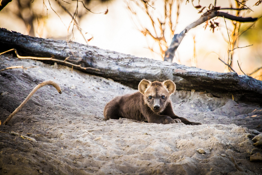
[[[176,85],[171,80],[166,80],[163,83],[148,80],[141,80],[138,85],[138,90],[143,94],[145,103],[156,113],[163,112],[166,108],[169,96],[175,92]]]

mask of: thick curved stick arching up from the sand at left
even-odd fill
[[[30,94],[27,96],[27,98],[20,104],[20,106],[18,106],[16,108],[16,110],[14,110],[14,112],[12,114],[9,115],[9,117],[4,121],[3,125],[7,125],[8,122],[11,120],[11,118],[26,104],[26,102],[32,97],[32,95],[41,87],[45,86],[45,85],[52,85],[56,88],[56,90],[59,92],[59,94],[62,94],[62,89],[61,87],[54,81],[48,80],[48,81],[44,81],[42,83],[40,83],[39,85],[37,85],[31,92]]]

